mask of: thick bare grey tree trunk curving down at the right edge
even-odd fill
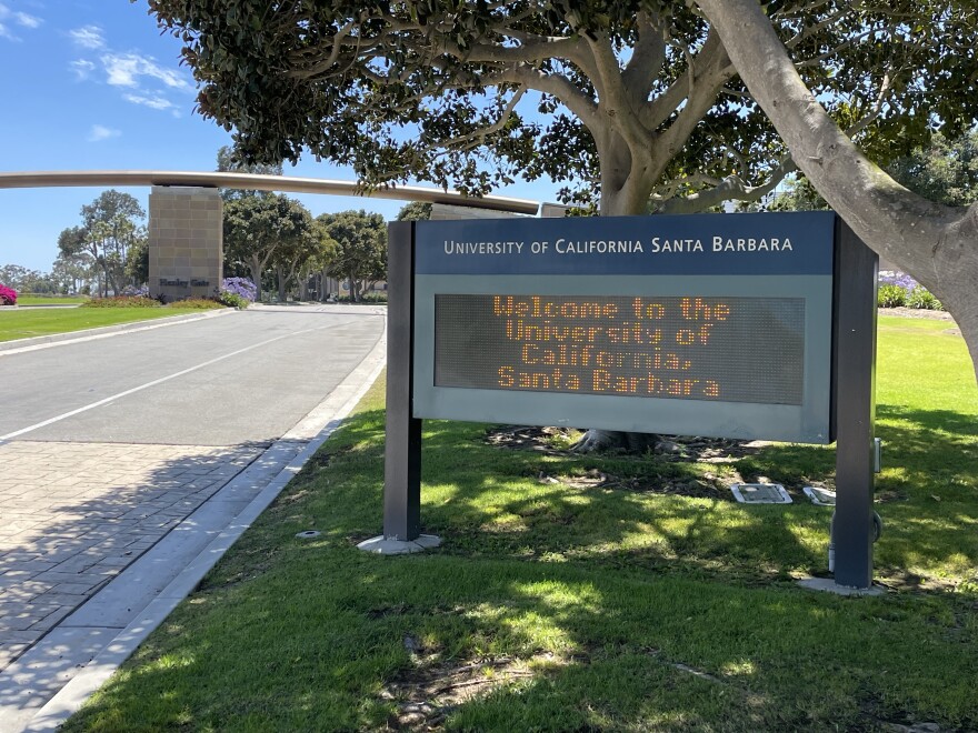
[[[870,249],[940,300],[978,373],[978,203],[927,201],[869,161],[801,81],[756,0],[698,4],[798,168]]]

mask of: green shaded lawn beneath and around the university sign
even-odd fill
[[[796,584],[826,574],[831,510],[801,488],[831,485],[834,451],[809,445],[579,456],[429,421],[443,545],[362,553],[377,385],[66,730],[978,729],[978,390],[948,325],[880,319],[884,596]],[[735,473],[796,503],[737,504]]]

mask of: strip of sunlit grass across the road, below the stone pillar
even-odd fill
[[[69,333],[101,325],[116,325],[183,313],[196,310],[179,308],[43,308],[0,311],[0,341],[30,339],[52,333]]]

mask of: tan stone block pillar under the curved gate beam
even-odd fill
[[[218,189],[154,185],[149,194],[149,294],[210,298],[221,284],[223,227]]]

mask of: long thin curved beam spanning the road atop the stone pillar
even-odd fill
[[[256,191],[289,191],[292,193],[326,193],[330,195],[361,195],[371,199],[397,199],[448,203],[475,209],[508,211],[535,215],[540,204],[527,199],[487,195],[468,197],[458,191],[418,185],[388,185],[365,190],[357,183],[295,175],[263,175],[259,173],[223,173],[219,171],[28,171],[0,173],[0,189],[37,189],[49,187],[101,185],[166,185]]]

